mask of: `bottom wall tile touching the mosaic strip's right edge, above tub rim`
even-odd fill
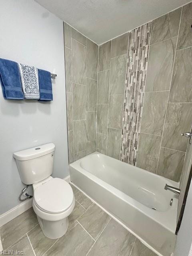
[[[156,173],[161,136],[140,133],[136,166]]]

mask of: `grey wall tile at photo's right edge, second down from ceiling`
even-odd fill
[[[169,102],[192,102],[191,72],[192,48],[176,51]]]

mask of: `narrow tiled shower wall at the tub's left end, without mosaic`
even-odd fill
[[[64,23],[69,163],[96,151],[98,45]]]

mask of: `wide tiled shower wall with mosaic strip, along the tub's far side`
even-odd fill
[[[129,50],[135,53],[141,46],[137,44],[138,28],[99,46],[97,151],[175,181],[180,180],[188,144],[188,139],[180,134],[190,131],[192,125],[191,17],[192,3],[152,21],[149,54],[143,58],[148,62],[146,77],[138,84],[142,70],[138,76],[134,72],[143,61],[142,51],[136,56],[134,67],[130,67],[132,56],[129,54]],[[150,22],[148,28],[149,25]],[[131,34],[135,33],[136,40],[128,50]],[[147,44],[145,41],[144,47]],[[129,73],[134,77],[129,82],[132,86],[137,84],[140,91],[138,98],[134,94],[130,97],[130,108],[125,111],[136,112],[142,90],[144,101],[140,101],[141,111],[137,112],[135,125],[129,125],[132,116],[128,116],[124,129],[124,102],[130,96],[125,81],[127,83]],[[141,124],[136,130],[140,118]],[[126,133],[132,133],[132,140],[130,149],[126,147],[122,155],[121,149],[125,148],[122,139],[126,138]],[[134,158],[127,157],[130,150]]]

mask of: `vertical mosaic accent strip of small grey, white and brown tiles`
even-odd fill
[[[136,165],[151,22],[129,33],[120,160]]]

